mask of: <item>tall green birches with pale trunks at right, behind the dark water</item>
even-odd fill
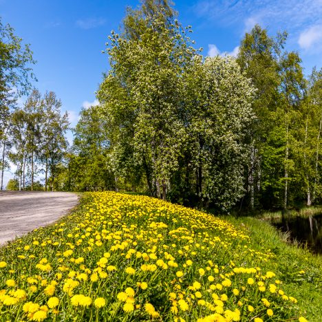
[[[286,36],[274,39],[255,25],[241,41],[237,58],[257,88],[246,182],[251,208],[286,209],[305,199],[310,206],[319,190],[321,99],[312,104],[312,82],[303,76],[299,54],[283,52]]]

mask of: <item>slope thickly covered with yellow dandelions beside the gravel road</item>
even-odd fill
[[[0,248],[0,319],[306,321],[263,268],[274,260],[213,215],[85,193],[71,215]]]

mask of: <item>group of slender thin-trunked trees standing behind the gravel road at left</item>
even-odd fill
[[[68,127],[68,115],[61,115],[61,100],[54,92],[41,96],[33,89],[23,107],[9,110],[1,158],[4,164],[11,162],[16,166],[15,189],[54,191],[62,188],[56,181],[67,152]],[[1,190],[4,189],[3,171]],[[40,177],[43,177],[43,185]],[[10,182],[9,186],[12,184]]]

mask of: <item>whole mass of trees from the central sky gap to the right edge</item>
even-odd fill
[[[236,59],[204,58],[175,17],[143,1],[111,32],[100,105],[75,129],[72,189],[225,210],[320,202],[321,71],[305,78],[286,32],[259,25]]]

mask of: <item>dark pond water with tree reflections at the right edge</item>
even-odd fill
[[[290,232],[290,237],[307,244],[313,253],[322,254],[322,213],[307,217],[284,217],[272,225],[284,232]]]

